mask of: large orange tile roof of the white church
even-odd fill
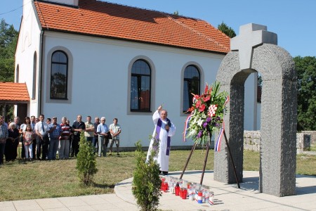
[[[79,7],[34,1],[43,30],[228,53],[230,38],[204,20],[105,1]]]

